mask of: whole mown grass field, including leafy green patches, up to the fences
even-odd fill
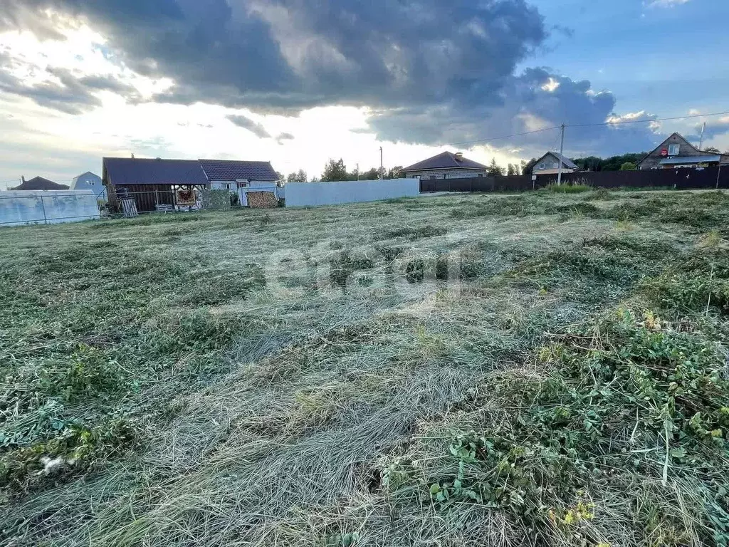
[[[2,230],[0,543],[726,546],[729,194]]]

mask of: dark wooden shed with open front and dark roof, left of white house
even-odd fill
[[[195,206],[195,189],[208,185],[198,160],[104,158],[101,178],[112,210],[128,195],[139,212]]]

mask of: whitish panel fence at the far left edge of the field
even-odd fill
[[[0,226],[58,224],[98,217],[98,203],[91,190],[0,192]]]

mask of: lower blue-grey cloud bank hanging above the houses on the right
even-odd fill
[[[656,136],[647,123],[604,125],[606,120],[623,120],[615,115],[615,102],[612,93],[596,92],[586,80],[574,81],[551,74],[547,69],[528,69],[504,82],[498,104],[464,109],[456,101],[448,101],[427,109],[387,109],[376,113],[370,119],[370,125],[383,139],[450,144],[524,133],[563,123],[595,124],[569,128],[566,150],[574,155],[588,152],[610,155],[654,147]],[[642,119],[655,117],[643,115]],[[491,142],[495,147],[520,147],[531,154],[553,148],[555,143],[558,144],[558,130]]]

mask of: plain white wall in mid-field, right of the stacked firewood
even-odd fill
[[[417,195],[420,195],[418,179],[289,182],[286,185],[286,206],[316,207]]]

